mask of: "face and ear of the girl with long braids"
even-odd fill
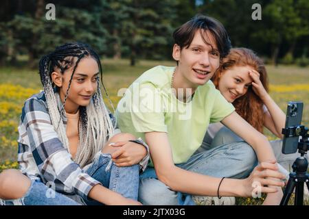
[[[66,70],[65,73],[52,73],[54,83],[59,87],[60,98],[62,102],[65,99],[69,81],[73,73],[73,67]],[[53,76],[54,75],[54,76]],[[87,106],[91,97],[98,89],[99,67],[98,63],[92,57],[84,57],[78,63],[73,75],[65,111],[75,113],[79,106]]]

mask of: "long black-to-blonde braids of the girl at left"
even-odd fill
[[[41,82],[43,84],[52,125],[58,133],[60,141],[68,151],[69,141],[67,139],[65,126],[62,123],[61,117],[64,113],[65,101],[67,100],[67,96],[69,94],[69,88],[71,86],[73,74],[75,73],[78,63],[83,57],[93,57],[93,59],[98,62],[102,78],[102,66],[100,64],[100,59],[98,55],[89,46],[87,46],[87,44],[64,44],[60,47],[57,47],[53,53],[45,55],[40,60]],[[55,68],[59,68],[62,74],[65,73],[65,70],[71,68],[71,66],[74,64],[74,61],[75,66],[69,81],[69,87],[65,95],[65,100],[59,111],[57,107],[56,95],[54,93],[55,85],[52,83],[51,74]],[[105,142],[108,140],[108,138],[113,136],[114,132],[111,118],[108,115],[108,110],[102,98],[99,80],[97,83],[98,90],[91,98],[90,104],[87,105],[87,107],[80,106],[80,125],[78,127],[79,145],[78,151],[76,152],[76,157],[74,157],[74,162],[80,164],[81,167],[86,166],[93,161],[95,154],[102,150]],[[104,90],[106,92],[105,88]]]

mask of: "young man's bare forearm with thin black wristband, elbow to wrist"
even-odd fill
[[[209,177],[178,167],[166,171],[159,177],[172,190],[200,196],[217,196],[218,185],[222,178]],[[220,185],[220,196],[243,196],[241,179],[224,179]]]

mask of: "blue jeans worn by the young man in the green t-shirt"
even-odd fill
[[[211,177],[243,179],[257,164],[258,159],[251,146],[237,142],[197,153],[176,166]],[[139,201],[144,205],[195,205],[190,194],[173,191],[159,181],[154,168],[148,167],[139,179]]]

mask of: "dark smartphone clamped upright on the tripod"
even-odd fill
[[[288,102],[288,109],[286,110],[286,128],[297,127],[301,125],[301,118],[303,115],[304,103],[300,101]],[[282,153],[290,154],[297,152],[299,136],[291,133],[290,136],[284,136],[282,144]]]

